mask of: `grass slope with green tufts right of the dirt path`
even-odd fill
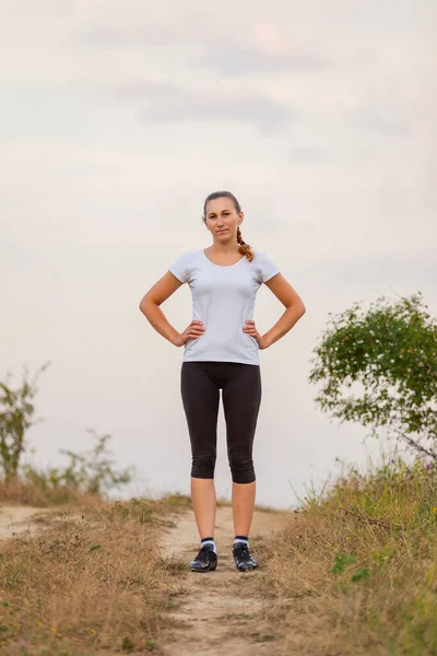
[[[258,546],[277,654],[437,654],[437,471],[353,469]]]

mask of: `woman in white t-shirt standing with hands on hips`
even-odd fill
[[[288,332],[305,314],[305,306],[265,253],[243,241],[244,212],[233,194],[211,194],[202,220],[212,245],[182,254],[144,295],[140,309],[160,335],[185,347],[180,390],[191,442],[191,500],[200,536],[200,551],[189,566],[193,572],[209,572],[217,565],[214,468],[222,389],[233,479],[233,557],[237,570],[246,571],[258,566],[250,553],[249,531],[256,495],[252,443],[261,401],[259,350]],[[185,282],[191,288],[193,319],[178,332],[160,305]],[[285,306],[264,335],[252,319],[262,283]]]

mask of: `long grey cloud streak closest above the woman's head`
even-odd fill
[[[227,120],[252,125],[263,132],[273,133],[284,130],[296,117],[292,107],[243,89],[188,89],[144,81],[121,85],[116,95],[144,103],[140,115],[143,122]]]

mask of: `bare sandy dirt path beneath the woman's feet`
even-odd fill
[[[175,528],[163,539],[163,555],[189,562],[199,550],[193,513],[176,516]],[[274,535],[291,519],[286,512],[256,511],[250,531],[250,549],[257,558],[257,540]],[[255,577],[260,570],[239,573],[232,558],[234,525],[232,507],[218,507],[215,541],[218,565],[215,572],[198,574],[187,570],[181,583],[185,593],[172,612],[166,656],[252,656],[275,654],[274,636],[262,618],[263,600]],[[262,574],[261,574],[262,575]],[[277,643],[276,643],[277,644]]]

